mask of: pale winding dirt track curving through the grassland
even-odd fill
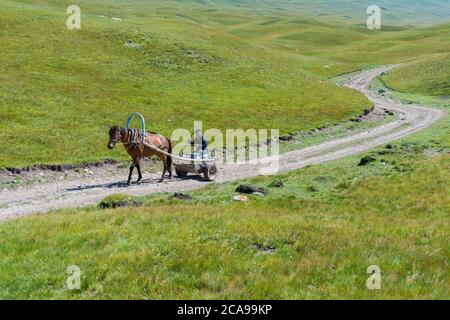
[[[353,134],[345,138],[330,140],[308,148],[280,155],[281,171],[298,169],[307,165],[343,158],[376,146],[406,137],[414,132],[430,127],[445,112],[416,105],[404,105],[367,89],[367,85],[389,68],[380,68],[359,73],[347,81],[346,86],[363,92],[375,103],[375,108],[393,111],[394,121],[374,129]],[[219,166],[218,182],[227,182],[261,173],[264,164]],[[205,186],[205,182],[175,178],[164,183],[157,182],[157,175],[143,181],[141,185],[126,187],[122,180],[126,170],[119,175],[68,179],[57,183],[39,184],[22,189],[0,192],[0,219],[19,217],[31,213],[47,212],[53,209],[78,207],[94,204],[114,193],[145,195],[155,192],[178,192]],[[118,182],[120,181],[120,182]]]

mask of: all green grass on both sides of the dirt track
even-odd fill
[[[0,167],[110,156],[107,126],[136,106],[166,134],[197,117],[286,132],[337,122],[367,101],[327,78],[371,64],[412,61],[384,79],[405,90],[394,96],[450,107],[430,97],[446,94],[448,25],[369,33],[273,11],[96,1],[82,3],[83,30],[71,33],[60,28],[66,4],[0,0]],[[449,151],[446,118],[337,162],[213,184],[191,201],[114,195],[104,207],[131,206],[3,221],[0,298],[448,299]],[[358,166],[367,155],[375,161]],[[285,187],[232,200],[239,183],[275,179]],[[81,268],[79,291],[65,287],[70,265]],[[370,265],[381,290],[365,288]]]

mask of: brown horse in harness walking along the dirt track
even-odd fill
[[[136,167],[138,170],[138,180],[139,183],[142,180],[141,166],[139,161],[143,158],[150,158],[154,155],[158,156],[164,164],[163,174],[160,181],[164,181],[164,176],[166,171],[169,172],[169,178],[172,178],[172,157],[164,153],[158,152],[144,144],[140,143],[142,141],[142,131],[137,129],[125,129],[119,126],[111,127],[109,130],[109,142],[108,148],[113,149],[117,142],[122,142],[123,146],[127,150],[128,154],[133,159],[130,166],[130,174],[128,176],[127,184],[131,185],[131,176],[133,175],[133,170]],[[144,142],[153,145],[156,148],[165,151],[167,153],[172,153],[172,143],[166,137],[151,132],[145,134]]]

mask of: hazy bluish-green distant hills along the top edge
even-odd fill
[[[120,0],[97,0],[95,3],[105,6],[123,4]],[[382,21],[389,25],[417,26],[448,22],[450,19],[450,3],[442,0],[378,0],[376,3],[367,0],[132,0],[128,3],[137,7],[194,8],[274,15],[290,11],[297,16],[314,15],[352,23],[365,23],[367,7],[376,4],[382,9]]]

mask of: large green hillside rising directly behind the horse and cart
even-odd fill
[[[206,128],[288,132],[369,106],[360,94],[306,72],[300,57],[173,11],[169,17],[89,4],[82,30],[71,32],[64,3],[0,6],[0,167],[113,157],[105,148],[108,126],[134,111],[149,129],[170,135],[194,120]],[[128,40],[137,48],[125,47]]]

